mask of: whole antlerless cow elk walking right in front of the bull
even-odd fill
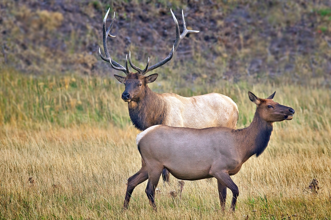
[[[226,188],[229,188],[233,195],[231,209],[234,211],[239,190],[230,176],[238,173],[250,157],[262,154],[268,145],[273,122],[293,118],[292,108],[273,101],[275,93],[262,99],[248,92],[257,108],[247,128],[196,129],[156,125],[138,134],[142,167],[128,179],[124,209],[128,207],[133,189],[148,179],[146,194],[156,210],[155,188],[162,170],[166,168],[182,180],[215,177],[222,210],[225,208]]]

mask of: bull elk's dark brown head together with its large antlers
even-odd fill
[[[106,57],[104,57],[101,54],[100,48],[99,48],[99,55],[100,57],[109,62],[111,64],[111,66],[116,69],[116,70],[120,70],[123,71],[125,73],[125,77],[124,76],[118,76],[118,75],[114,75],[115,78],[120,82],[123,83],[125,85],[125,90],[122,93],[122,99],[124,101],[130,102],[131,100],[135,100],[136,97],[139,97],[139,94],[144,91],[144,89],[147,87],[148,83],[152,83],[156,80],[156,78],[158,77],[158,74],[152,74],[149,76],[145,76],[145,74],[151,70],[154,70],[162,65],[164,65],[166,62],[168,62],[173,54],[175,53],[175,51],[177,50],[180,41],[186,36],[186,34],[188,33],[198,33],[199,31],[196,30],[188,30],[186,28],[186,24],[185,24],[185,19],[184,19],[184,13],[182,10],[182,19],[183,19],[183,32],[182,34],[179,34],[179,25],[178,25],[178,21],[175,17],[175,15],[173,14],[172,10],[170,9],[172,18],[175,21],[175,27],[176,27],[176,40],[175,43],[172,45],[172,49],[169,53],[169,55],[162,61],[152,65],[152,66],[148,66],[149,65],[149,57],[148,57],[148,61],[147,61],[147,65],[145,67],[145,69],[140,69],[139,67],[133,65],[132,61],[131,61],[131,51],[129,52],[129,63],[130,66],[136,70],[136,73],[133,73],[129,70],[129,65],[128,65],[128,61],[127,61],[127,55],[125,57],[125,67],[123,67],[121,64],[119,64],[118,62],[116,62],[115,60],[112,59],[112,57],[109,54],[108,48],[107,48],[107,37],[116,37],[110,34],[110,30],[112,29],[113,23],[114,23],[114,19],[115,19],[115,12],[114,12],[114,17],[112,19],[112,22],[109,26],[109,28],[106,30],[106,19],[108,17],[108,13],[109,10],[106,13],[106,16],[103,20],[103,47],[104,47],[104,51],[106,54]]]

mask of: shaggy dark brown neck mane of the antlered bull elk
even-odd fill
[[[143,131],[153,125],[162,125],[166,119],[166,102],[160,94],[146,89],[133,103],[128,103],[130,120],[135,128]]]

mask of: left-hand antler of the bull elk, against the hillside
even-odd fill
[[[102,29],[103,29],[103,47],[104,47],[104,51],[105,51],[105,54],[106,54],[106,57],[104,57],[102,54],[101,54],[101,51],[100,51],[100,48],[99,48],[99,55],[101,57],[101,59],[107,61],[107,62],[110,62],[111,63],[111,66],[116,69],[116,70],[120,70],[120,71],[123,71],[125,74],[128,74],[128,69],[124,68],[121,64],[119,64],[118,62],[116,62],[115,60],[112,59],[112,57],[110,56],[109,54],[109,51],[108,51],[108,47],[107,47],[107,37],[110,36],[110,37],[116,37],[116,36],[113,36],[110,34],[110,30],[112,29],[112,26],[113,26],[113,23],[114,23],[114,19],[115,19],[115,12],[114,12],[114,17],[112,19],[112,22],[108,28],[108,30],[106,31],[106,20],[107,20],[107,17],[108,17],[108,14],[109,14],[109,10],[110,8],[108,9],[104,19],[103,19],[103,25],[102,25]]]

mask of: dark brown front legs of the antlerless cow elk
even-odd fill
[[[213,176],[217,179],[217,181],[220,184],[229,188],[232,191],[231,209],[232,209],[232,211],[235,211],[237,197],[239,196],[238,186],[232,181],[229,173],[227,173],[227,172],[216,172],[216,173],[213,173]],[[225,188],[225,190],[226,190],[226,188]],[[222,201],[221,201],[221,206],[222,206]]]

